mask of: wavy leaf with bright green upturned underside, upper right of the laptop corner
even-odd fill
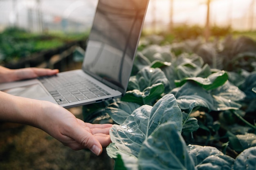
[[[228,75],[225,71],[219,71],[209,75],[207,78],[202,77],[187,77],[182,80],[176,80],[176,86],[182,86],[187,81],[194,81],[206,90],[213,90],[225,84],[228,79]]]

